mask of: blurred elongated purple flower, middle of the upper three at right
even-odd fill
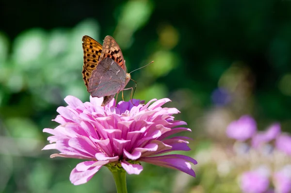
[[[279,123],[272,124],[266,131],[257,133],[252,139],[252,146],[258,148],[260,145],[269,143],[275,140],[281,133],[281,126]]]

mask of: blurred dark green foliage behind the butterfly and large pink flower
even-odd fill
[[[143,164],[129,193],[239,193],[238,169],[213,148],[228,123],[250,114],[260,130],[279,121],[291,132],[290,0],[1,0],[0,18],[0,193],[115,193],[107,168],[74,186],[80,161],[41,151],[65,96],[89,100],[83,35],[112,35],[129,72],[154,61],[131,74],[134,98],[170,98],[193,130],[183,153],[196,178]]]

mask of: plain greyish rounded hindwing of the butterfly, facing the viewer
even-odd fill
[[[114,96],[124,88],[125,83],[125,71],[113,59],[105,58],[92,71],[88,92],[93,97]]]

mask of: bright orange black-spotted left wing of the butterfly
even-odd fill
[[[82,46],[84,51],[84,64],[83,64],[83,80],[88,89],[88,82],[91,77],[91,73],[96,69],[96,66],[100,60],[102,52],[102,46],[95,39],[84,35],[82,38]],[[119,47],[118,47],[119,48]]]

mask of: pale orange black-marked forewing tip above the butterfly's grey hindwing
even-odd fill
[[[100,60],[112,58],[126,72],[125,61],[116,41],[110,35],[104,38]]]

